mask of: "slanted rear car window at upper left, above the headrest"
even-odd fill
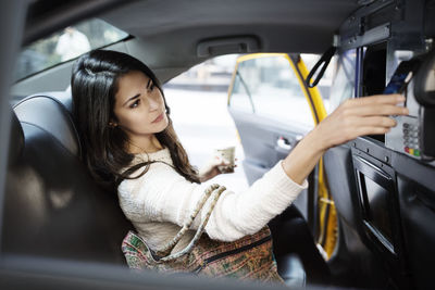
[[[98,18],[69,26],[24,47],[15,65],[14,79],[23,79],[127,36],[128,34]]]

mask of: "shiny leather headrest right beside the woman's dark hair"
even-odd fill
[[[76,156],[82,154],[77,129],[72,117],[70,91],[50,91],[29,96],[14,105],[21,123],[46,130]]]

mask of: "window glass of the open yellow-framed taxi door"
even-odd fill
[[[229,105],[283,123],[314,126],[310,106],[285,55],[240,62]]]

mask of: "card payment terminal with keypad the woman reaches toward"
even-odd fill
[[[435,50],[402,61],[384,93],[402,93],[408,116],[394,116],[397,126],[385,135],[385,146],[414,159],[435,157]]]

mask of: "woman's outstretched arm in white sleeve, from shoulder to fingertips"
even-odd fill
[[[321,122],[283,161],[243,192],[225,190],[206,227],[210,238],[232,241],[260,230],[282,213],[307,188],[307,176],[331,147],[370,134],[383,134],[396,122],[389,115],[408,111],[397,106],[400,96],[375,96],[349,100]],[[119,187],[121,207],[139,229],[148,223],[170,222],[183,226],[207,185],[186,180],[165,164],[151,164],[138,179]],[[198,228],[206,211],[196,218]],[[164,225],[162,226],[164,227]],[[153,235],[157,235],[156,232]]]

